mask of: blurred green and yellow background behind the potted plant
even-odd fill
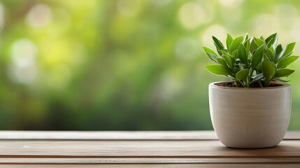
[[[278,32],[300,55],[299,16],[292,0],[0,1],[0,129],[211,130],[208,83],[226,79],[201,46]]]

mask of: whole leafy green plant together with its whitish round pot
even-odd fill
[[[282,77],[299,56],[295,43],[284,49],[278,34],[264,38],[227,34],[226,45],[213,36],[217,52],[203,46],[215,62],[206,69],[232,81],[210,83],[209,106],[221,143],[232,148],[269,148],[283,139],[290,122],[291,85]]]

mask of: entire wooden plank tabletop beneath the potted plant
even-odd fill
[[[300,167],[300,132],[235,149],[212,131],[0,132],[0,167]]]

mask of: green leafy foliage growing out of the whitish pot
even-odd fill
[[[227,34],[224,46],[213,36],[218,55],[206,46],[203,50],[217,64],[210,64],[206,69],[215,75],[231,78],[236,87],[269,87],[273,80],[288,82],[281,77],[294,72],[286,67],[299,58],[292,55],[296,43],[288,43],[283,50],[277,41],[277,33],[268,38],[249,37],[248,34],[232,38]]]

